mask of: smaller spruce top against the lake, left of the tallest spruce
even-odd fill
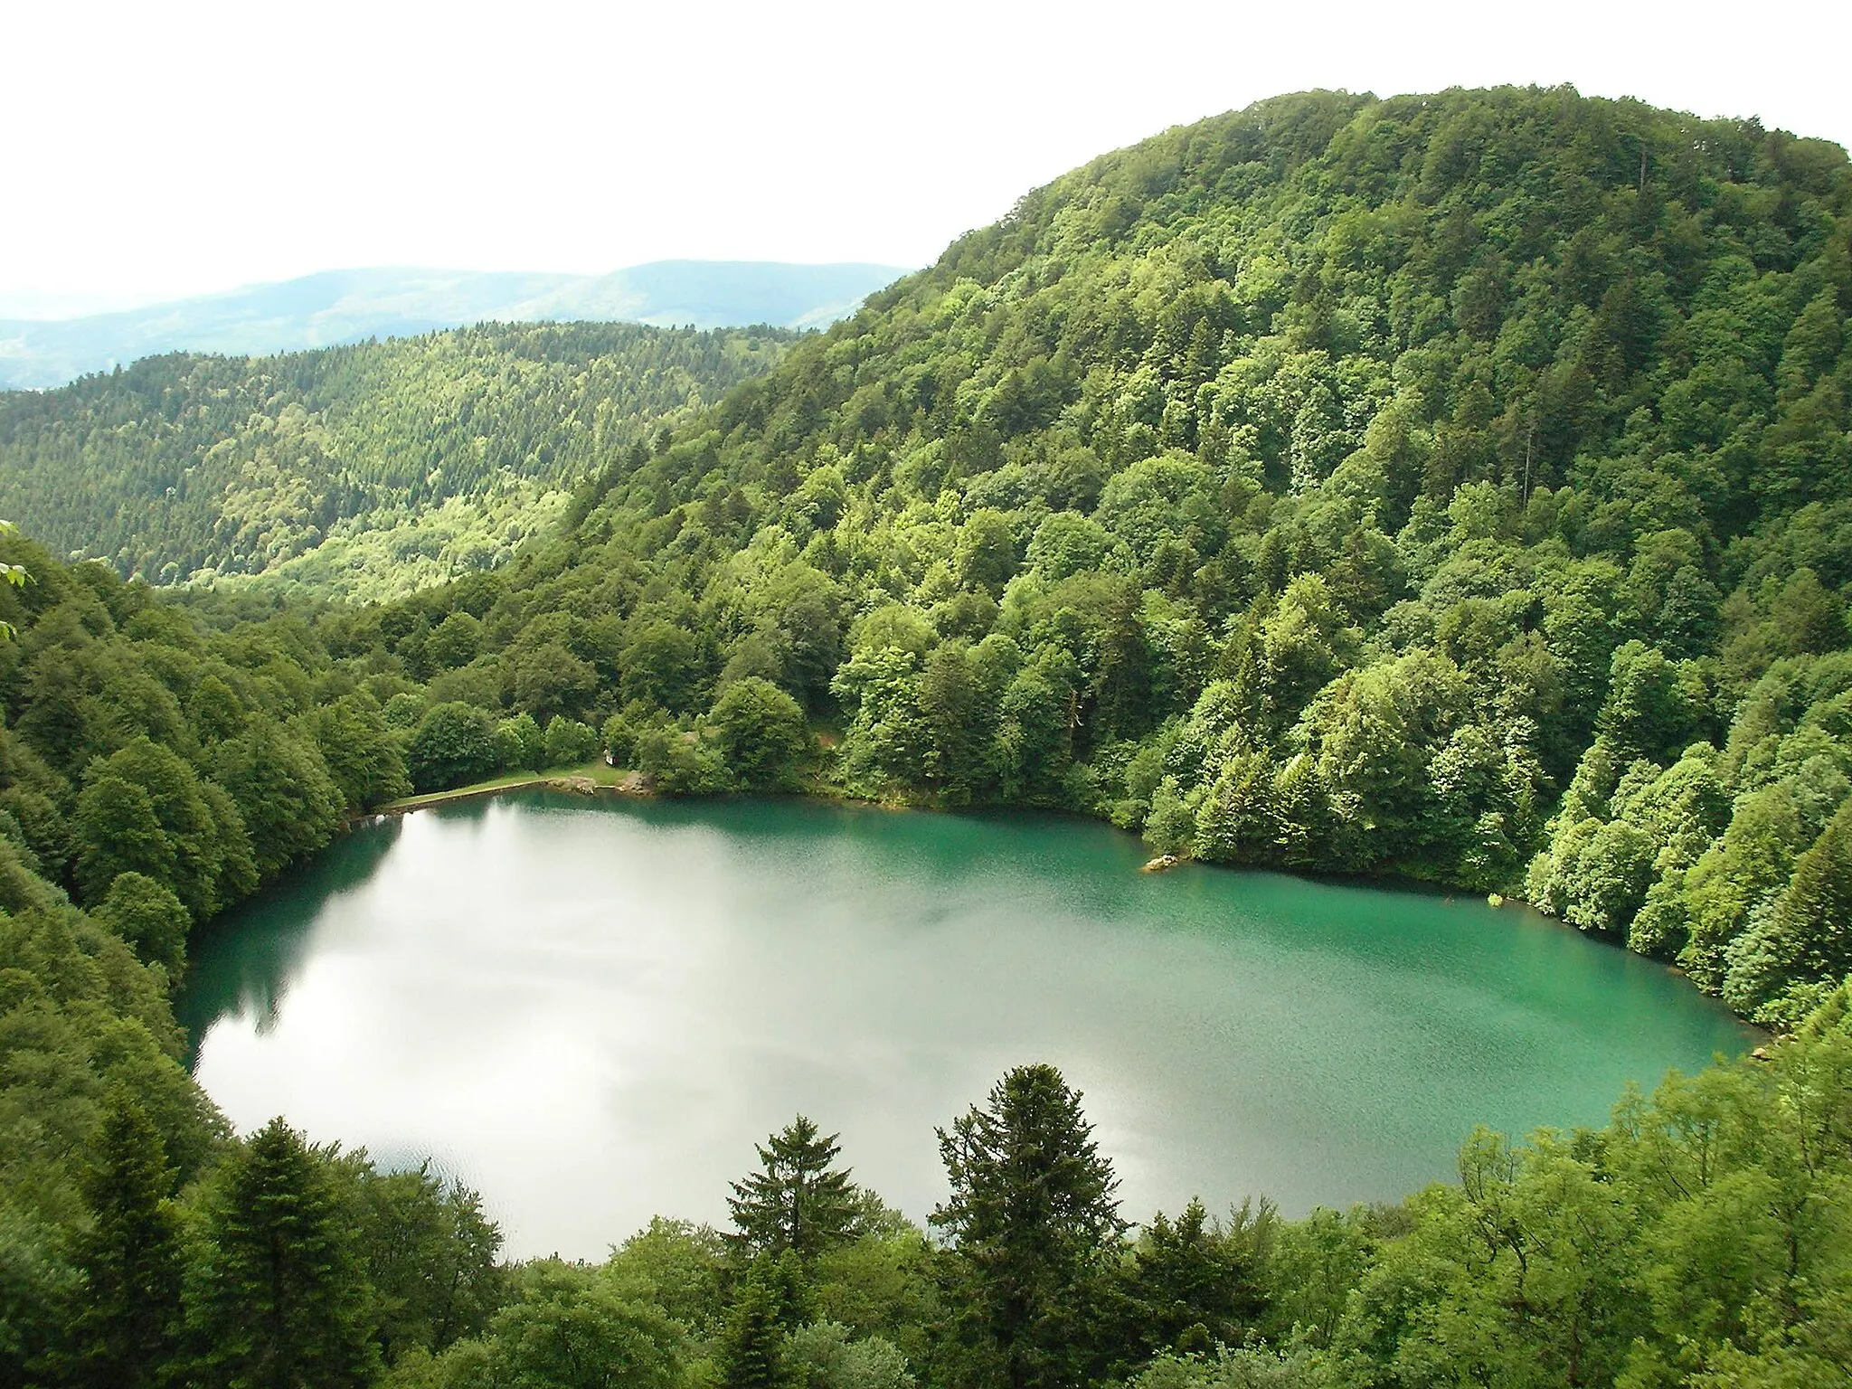
[[[837,1170],[837,1135],[822,1137],[804,1115],[756,1145],[761,1170],[733,1182],[726,1204],[735,1232],[728,1241],[745,1254],[796,1252],[815,1259],[854,1237],[856,1187]]]

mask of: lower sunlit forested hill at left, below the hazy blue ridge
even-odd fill
[[[506,561],[587,469],[767,370],[793,337],[485,324],[148,357],[0,394],[0,515],[156,583],[409,593]]]

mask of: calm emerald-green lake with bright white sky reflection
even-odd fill
[[[722,1222],[793,1113],[924,1219],[933,1126],[1011,1065],[1085,1093],[1124,1211],[1289,1213],[1454,1174],[1476,1122],[1596,1124],[1752,1033],[1474,896],[1187,867],[1054,817],[550,793],[341,839],[200,941],[196,1074],[478,1187],[509,1252]]]

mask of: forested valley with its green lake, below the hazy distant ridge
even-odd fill
[[[1835,144],[1315,91],[0,398],[0,1378],[1845,1383],[1848,313]]]

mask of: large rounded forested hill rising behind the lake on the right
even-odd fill
[[[1852,965],[1848,235],[1754,122],[1265,102],[798,344],[507,602],[694,633],[670,713],[770,676],[869,795],[1517,889],[1793,1017]]]

